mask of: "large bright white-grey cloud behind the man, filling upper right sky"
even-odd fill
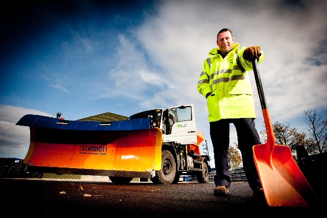
[[[209,139],[205,99],[196,91],[203,60],[216,45],[220,29],[228,28],[241,46],[260,45],[265,60],[261,77],[272,120],[288,122],[305,110],[327,108],[326,63],[327,22],[325,1],[300,1],[287,5],[283,1],[162,1],[158,13],[148,15],[137,29],[150,61],[171,78],[174,86],[161,95],[177,104],[192,103],[197,127]],[[323,43],[324,42],[324,43]],[[321,47],[322,46],[322,47]],[[319,51],[323,54],[313,54]],[[253,73],[257,128],[262,112]],[[170,105],[167,105],[168,107]],[[237,142],[231,125],[231,144]]]

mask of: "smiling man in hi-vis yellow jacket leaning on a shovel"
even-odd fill
[[[253,197],[262,198],[263,189],[253,160],[252,147],[261,144],[254,126],[255,112],[252,88],[246,71],[252,60],[261,63],[264,54],[259,46],[241,47],[228,29],[217,35],[217,45],[208,54],[198,81],[198,91],[207,99],[210,136],[214,147],[216,176],[215,196],[229,193],[228,163],[229,124],[235,125],[243,168],[253,190]]]

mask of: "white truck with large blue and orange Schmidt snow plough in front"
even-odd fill
[[[196,129],[194,105],[151,109],[113,122],[27,114],[16,125],[30,127],[23,160],[28,172],[108,176],[116,184],[133,178],[173,184],[181,175],[206,183],[211,172],[208,153],[201,153],[204,135]]]

